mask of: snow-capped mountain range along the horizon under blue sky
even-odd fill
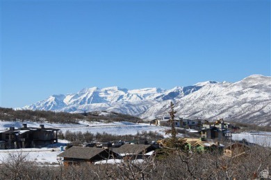
[[[116,111],[144,119],[167,115],[170,101],[176,116],[236,120],[271,125],[271,77],[251,75],[239,82],[199,82],[189,87],[122,89],[85,88],[78,93],[54,95],[22,109],[51,111]]]

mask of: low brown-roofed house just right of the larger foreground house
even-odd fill
[[[133,159],[142,159],[147,153],[156,150],[153,145],[144,144],[124,144],[121,147],[113,148],[113,152],[122,157],[131,157]],[[148,155],[147,155],[148,156]]]

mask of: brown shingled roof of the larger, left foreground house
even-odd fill
[[[70,147],[65,152],[58,154],[60,157],[74,158],[74,159],[92,159],[92,157],[105,151],[97,147]]]

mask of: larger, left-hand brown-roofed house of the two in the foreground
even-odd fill
[[[105,159],[113,159],[117,156],[115,152],[108,149],[97,147],[76,147],[72,146],[65,150],[59,157],[63,158],[65,167],[72,164],[79,164],[82,162],[95,163]]]

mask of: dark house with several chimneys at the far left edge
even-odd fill
[[[23,124],[21,128],[10,129],[0,132],[1,147],[4,149],[17,149],[26,147],[42,147],[58,142],[59,129],[40,127],[27,127]]]

